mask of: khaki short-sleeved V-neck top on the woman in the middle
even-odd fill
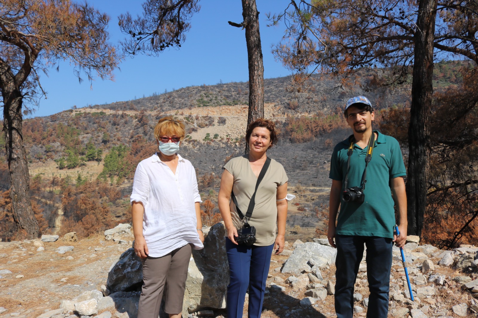
[[[228,170],[234,177],[232,191],[234,191],[240,211],[245,215],[257,182],[247,155],[230,159],[224,169]],[[257,189],[254,210],[249,221],[250,225],[256,228],[256,243],[254,244],[256,246],[269,246],[275,242],[277,187],[287,182],[287,180],[284,167],[279,162],[271,159],[271,164]],[[239,214],[236,212],[236,205],[232,200],[230,209],[232,223],[236,229],[240,229],[243,222],[240,220]]]

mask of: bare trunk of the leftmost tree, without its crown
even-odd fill
[[[11,69],[0,63],[3,132],[11,178],[13,219],[22,236],[34,239],[38,238],[40,230],[30,202],[30,173],[22,136],[22,92],[17,82]]]

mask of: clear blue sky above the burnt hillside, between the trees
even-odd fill
[[[124,35],[120,33],[118,16],[129,11],[133,16],[140,13],[143,1],[89,0],[88,3],[111,17],[109,32],[111,42],[117,43]],[[201,10],[191,21],[191,30],[180,50],[164,51],[159,57],[136,55],[127,57],[115,72],[115,81],[93,81],[92,89],[87,80],[79,84],[67,62],[60,62],[59,72],[54,68],[48,76],[42,74],[40,81],[47,92],[33,115],[47,116],[89,104],[104,104],[163,93],[190,85],[213,85],[248,81],[247,48],[245,31],[232,27],[228,21],[242,22],[240,0],[200,0]],[[280,12],[287,0],[257,0],[260,11],[264,77],[291,74],[271,53],[271,45],[279,42],[284,26],[266,27],[266,13]],[[28,118],[27,117],[27,118]]]

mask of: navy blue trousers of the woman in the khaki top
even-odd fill
[[[226,238],[230,275],[226,299],[228,318],[242,318],[248,287],[248,317],[261,317],[273,248],[274,244],[269,246],[236,245]]]

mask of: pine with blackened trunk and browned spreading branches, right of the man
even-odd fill
[[[299,84],[332,73],[341,85],[363,67],[384,67],[375,85],[407,81],[412,73],[409,125],[408,234],[423,228],[430,158],[429,120],[434,60],[450,55],[478,64],[478,3],[467,0],[291,0],[272,24],[287,32],[273,52]]]

